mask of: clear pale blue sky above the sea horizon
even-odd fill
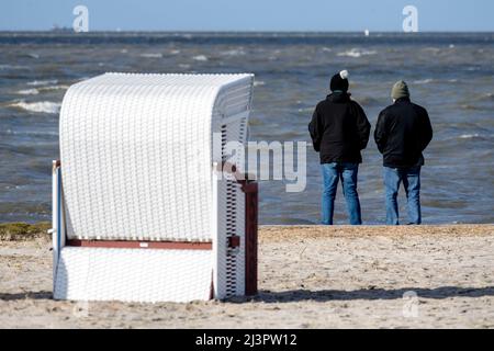
[[[494,31],[492,0],[2,0],[0,31],[71,27],[89,9],[90,31],[402,31],[418,9],[419,31]]]

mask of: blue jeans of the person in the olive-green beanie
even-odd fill
[[[384,188],[386,196],[386,224],[400,225],[397,193],[400,183],[405,188],[409,224],[422,224],[420,214],[420,167],[389,168],[384,167]]]

